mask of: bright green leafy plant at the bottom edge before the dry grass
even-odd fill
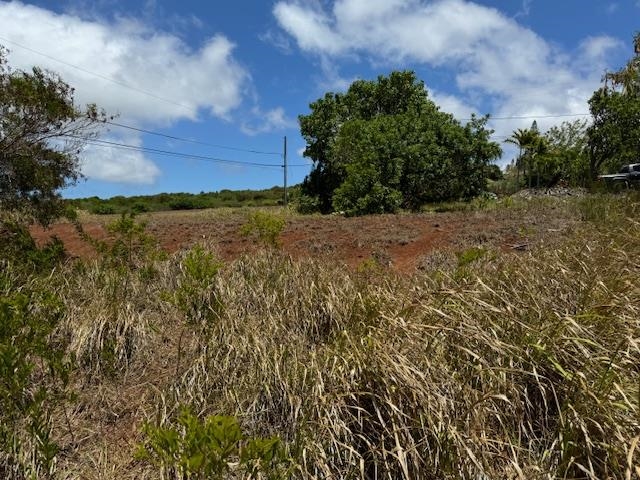
[[[245,474],[248,478],[287,478],[290,461],[278,437],[245,436],[234,417],[203,421],[183,409],[172,427],[145,424],[136,457],[150,462],[168,478],[209,480]],[[234,477],[235,478],[235,477]]]

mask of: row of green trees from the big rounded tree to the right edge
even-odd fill
[[[513,189],[590,186],[598,174],[640,161],[640,34],[633,58],[604,76],[588,104],[591,120],[563,122],[544,133],[534,121],[512,133],[505,143],[518,149],[506,166]],[[426,202],[476,196],[500,176],[492,162],[502,150],[490,140],[489,117],[460,123],[428,98],[414,72],[358,80],[310,110],[299,117],[304,155],[313,160],[302,184],[303,211],[416,210]]]

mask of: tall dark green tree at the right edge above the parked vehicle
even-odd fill
[[[618,170],[638,160],[640,151],[640,33],[634,37],[634,57],[621,70],[604,76],[604,85],[589,99],[587,130],[589,170]]]

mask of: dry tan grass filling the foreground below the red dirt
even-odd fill
[[[279,435],[296,478],[635,478],[637,214],[411,277],[265,250],[218,273],[197,323],[166,301],[184,254],[152,279],[68,267],[81,394],[59,475],[160,478],[132,459],[140,424],[189,405]]]

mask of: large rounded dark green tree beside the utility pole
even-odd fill
[[[327,93],[300,116],[300,126],[305,156],[314,161],[303,193],[323,212],[388,212],[471,197],[484,188],[489,161],[500,155],[486,118],[461,125],[409,71]]]

